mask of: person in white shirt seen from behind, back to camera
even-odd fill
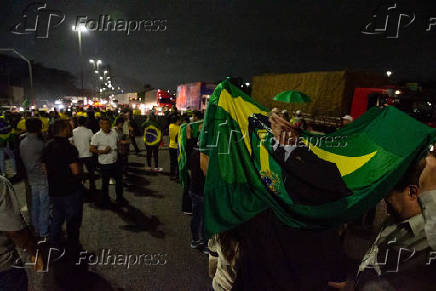
[[[80,116],[77,120],[79,126],[73,130],[73,145],[76,146],[79,152],[79,159],[82,165],[86,166],[89,174],[89,191],[95,193],[95,168],[96,163],[91,153],[91,139],[94,136],[92,130],[86,128],[87,118]]]

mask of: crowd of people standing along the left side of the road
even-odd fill
[[[180,120],[177,113],[166,119]],[[169,122],[168,122],[169,123]],[[155,124],[156,133],[147,139],[147,128]],[[162,144],[162,125],[157,124],[154,112],[142,125],[145,130],[147,171],[162,172],[158,167],[158,151]],[[89,109],[74,114],[52,111],[4,112],[0,117],[0,289],[27,290],[27,276],[23,268],[14,268],[18,254],[15,247],[25,248],[35,267],[44,263],[38,249],[47,244],[64,248],[69,254],[80,249],[80,227],[83,203],[95,207],[122,207],[129,204],[124,197],[130,146],[136,154],[138,125],[126,109],[119,114]],[[172,138],[172,143],[174,143]],[[6,170],[5,156],[9,170]],[[155,167],[151,168],[154,156]],[[172,165],[177,166],[176,160]],[[86,172],[84,171],[86,169]],[[174,170],[176,171],[176,170]],[[101,177],[101,189],[96,180]],[[9,178],[9,179],[8,179]],[[26,204],[31,226],[20,215],[13,183],[24,180]],[[88,181],[88,187],[85,187]],[[109,184],[115,184],[115,203],[109,195]],[[66,238],[62,238],[65,224]],[[37,247],[38,246],[38,247]],[[21,263],[18,263],[21,264]]]

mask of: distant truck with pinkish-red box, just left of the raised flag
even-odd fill
[[[216,88],[214,83],[195,82],[177,86],[176,105],[180,111],[204,110]]]

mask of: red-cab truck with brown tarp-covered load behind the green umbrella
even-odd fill
[[[272,98],[287,90],[307,94],[307,104],[285,104]],[[268,108],[301,110],[312,120],[328,120],[351,115],[357,119],[373,106],[395,106],[431,127],[436,92],[422,91],[416,83],[401,87],[381,73],[326,71],[295,74],[269,74],[253,78],[252,97]],[[327,123],[327,122],[321,122]]]

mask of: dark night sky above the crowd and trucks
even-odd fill
[[[396,1],[416,20],[398,39],[365,35],[380,1],[48,1],[65,13],[65,21],[47,39],[15,35],[24,8],[33,1],[2,0],[0,47],[12,47],[35,62],[72,72],[79,79],[77,16],[111,15],[126,20],[166,20],[166,31],[88,32],[83,34],[85,87],[91,86],[89,58],[110,64],[126,91],[174,90],[191,81],[217,81],[226,76],[250,79],[264,73],[314,70],[390,69],[396,78],[436,80],[435,1]],[[432,4],[433,2],[433,4]],[[79,85],[79,84],[78,84]]]

